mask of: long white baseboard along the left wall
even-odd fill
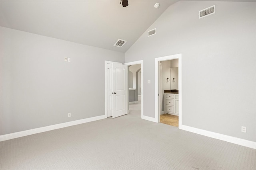
[[[90,118],[86,118],[86,119],[69,121],[69,122],[66,122],[66,123],[60,123],[60,124],[56,124],[56,125],[39,127],[39,128],[36,128],[36,129],[30,129],[30,130],[26,130],[26,131],[9,133],[9,134],[6,134],[6,135],[0,135],[0,141],[6,141],[6,140],[9,140],[9,139],[24,137],[24,136],[33,135],[33,134],[36,134],[36,133],[42,133],[42,132],[46,132],[46,131],[60,129],[60,128],[63,128],[63,127],[79,125],[79,124],[82,124],[82,123],[87,123],[87,122],[90,122],[90,121],[96,121],[96,120],[105,119],[105,118],[106,118],[105,115],[101,115],[101,116],[90,117]]]

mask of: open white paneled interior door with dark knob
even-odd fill
[[[113,63],[113,118],[127,114],[127,65]]]

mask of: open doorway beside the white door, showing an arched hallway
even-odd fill
[[[143,61],[124,63],[128,65],[129,113],[143,116]]]

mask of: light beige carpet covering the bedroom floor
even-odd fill
[[[0,143],[1,170],[255,170],[256,150],[140,118],[139,110]]]

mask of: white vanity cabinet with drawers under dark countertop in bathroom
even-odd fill
[[[179,115],[179,94],[164,93],[165,113]]]

